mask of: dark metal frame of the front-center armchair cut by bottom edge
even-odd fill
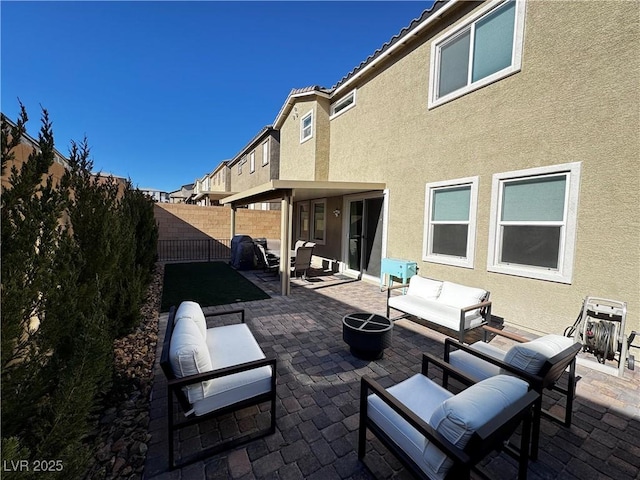
[[[422,375],[428,376],[430,363],[440,367],[443,371],[443,376],[444,374],[451,376],[467,386],[476,383],[474,379],[470,378],[460,370],[428,353],[425,353],[422,356]],[[368,428],[416,478],[428,479],[429,477],[426,473],[404,452],[404,450],[402,450],[402,448],[397,445],[391,437],[389,437],[380,427],[378,427],[378,425],[376,425],[374,421],[369,418],[369,415],[367,414],[367,397],[369,392],[378,395],[383,402],[389,405],[398,415],[420,432],[421,435],[427,438],[430,442],[433,442],[435,446],[453,460],[454,465],[446,476],[448,479],[471,478],[472,470],[483,478],[489,478],[483,472],[475,468],[475,465],[477,465],[478,462],[480,462],[490,452],[494,450],[501,450],[504,446],[504,441],[508,440],[512,433],[517,429],[518,425],[522,422],[521,444],[519,453],[517,454],[518,478],[527,478],[532,409],[540,397],[540,395],[534,390],[529,390],[527,395],[511,405],[510,408],[507,409],[499,418],[493,419],[491,422],[488,422],[482,428],[478,429],[473,434],[466,447],[464,449],[460,449],[415,413],[409,410],[393,395],[389,394],[382,385],[366,375],[363,376],[361,379],[360,391],[358,458],[361,461],[364,459],[367,441],[366,430]],[[513,454],[513,452],[509,453]]]

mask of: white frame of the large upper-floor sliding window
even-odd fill
[[[472,49],[474,45],[475,24],[479,20],[481,20],[483,17],[490,14],[495,9],[500,8],[503,4],[507,3],[508,1],[516,2],[511,65],[487,77],[477,80],[475,82],[472,82],[471,78],[469,78],[466,87],[462,87],[454,92],[450,92],[447,95],[443,95],[442,97],[438,98],[438,87],[439,87],[438,78],[440,73],[441,47],[444,44],[447,44],[450,40],[454,39],[456,36],[462,34],[463,32],[469,29],[471,30],[470,52],[469,52],[469,77],[470,77],[471,72],[473,71],[471,67],[472,67],[472,58],[473,58]],[[451,100],[454,100],[458,97],[466,95],[469,92],[482,88],[491,83],[497,82],[498,80],[501,80],[521,70],[522,48],[524,43],[525,10],[526,10],[526,2],[523,0],[494,0],[484,8],[478,10],[478,12],[475,15],[467,19],[464,23],[460,24],[455,29],[450,30],[446,34],[436,38],[431,43],[431,61],[430,61],[431,65],[430,65],[430,73],[429,73],[428,108],[434,108],[434,107],[437,107],[438,105],[442,105],[443,103],[450,102]]]

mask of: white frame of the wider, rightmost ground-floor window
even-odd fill
[[[547,167],[530,168],[493,175],[491,186],[491,217],[489,224],[489,251],[487,270],[518,277],[535,278],[551,282],[570,284],[573,277],[573,260],[576,248],[576,226],[578,220],[578,197],[580,191],[581,162],[564,163]],[[566,175],[564,218],[558,222],[561,227],[558,268],[535,267],[530,265],[500,262],[502,236],[500,211],[502,210],[503,188],[509,181],[526,180],[535,177]],[[535,224],[533,222],[532,224]]]

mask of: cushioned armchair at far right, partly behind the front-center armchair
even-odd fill
[[[530,340],[493,327],[484,326],[483,328],[485,340],[486,333],[493,333],[517,343],[505,352],[483,341],[465,345],[447,338],[444,344],[444,360],[477,381],[502,373],[516,375],[526,380],[531,388],[540,394],[534,409],[531,440],[531,458],[535,460],[538,456],[540,417],[542,415],[564,426],[571,426],[576,387],[576,355],[582,345],[574,343],[571,338],[560,335],[545,335]],[[569,375],[565,388],[558,385],[558,380],[567,368]],[[446,373],[443,377],[446,386]],[[546,389],[557,391],[566,396],[564,418],[557,417],[542,409],[542,394]]]

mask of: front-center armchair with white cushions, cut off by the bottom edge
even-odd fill
[[[454,395],[427,377],[429,363],[471,386]],[[385,389],[366,376],[361,384],[360,460],[368,428],[417,478],[470,478],[478,462],[500,450],[522,424],[518,477],[526,478],[531,411],[539,394],[524,380],[498,375],[473,384],[424,354],[422,373],[397,385]]]

